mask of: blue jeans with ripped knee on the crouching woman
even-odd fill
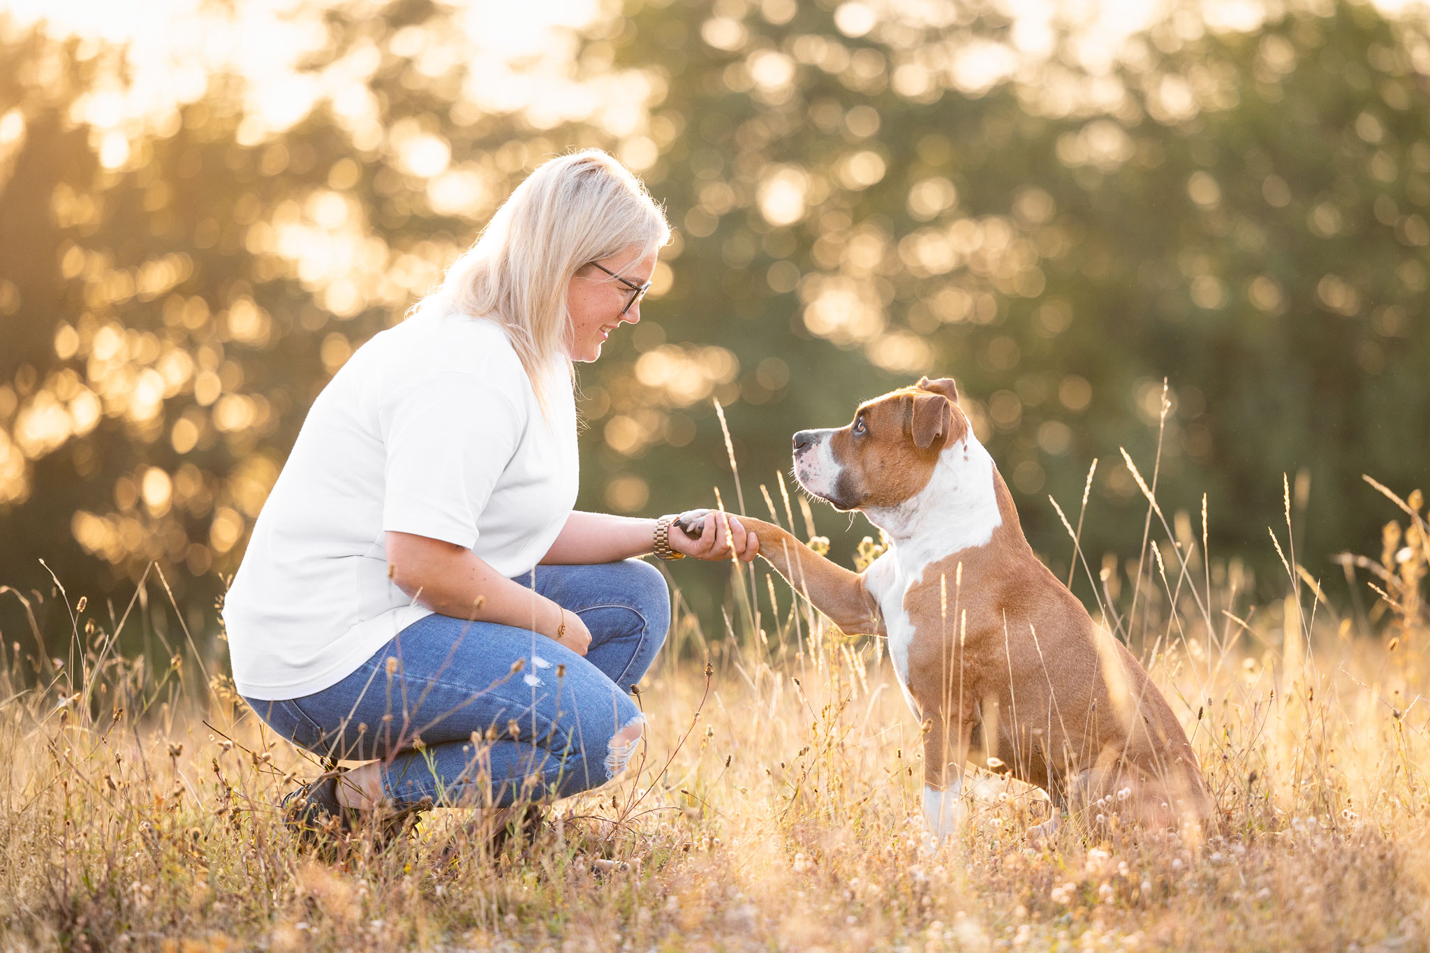
[[[516,582],[581,616],[578,656],[512,626],[430,614],[337,684],[246,699],[283,737],[323,757],[383,762],[396,806],[565,797],[626,766],[644,726],[631,699],[665,643],[671,596],[641,560],[538,566]]]

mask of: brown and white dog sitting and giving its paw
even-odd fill
[[[1214,803],[1147,672],[1038,562],[1012,497],[950,379],[865,401],[845,427],[794,437],[799,484],[889,537],[864,573],[785,530],[739,517],[764,556],[839,629],[887,634],[924,723],[924,814],[934,843],[962,817],[964,764],[998,764],[1090,820],[1210,823]],[[698,534],[704,510],[679,524]],[[990,762],[988,759],[998,759]],[[1113,822],[1111,819],[1117,819]]]

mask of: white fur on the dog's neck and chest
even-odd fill
[[[888,632],[889,659],[904,689],[904,699],[918,714],[908,689],[908,649],[918,624],[909,617],[905,596],[924,582],[925,569],[961,550],[984,546],[1002,524],[994,487],[992,457],[971,434],[938,456],[928,486],[899,506],[865,510],[869,522],[892,543],[865,573],[865,586],[879,603]],[[947,580],[948,612],[954,612],[955,579]],[[954,626],[954,619],[919,620],[925,626]],[[940,633],[941,634],[941,633]]]

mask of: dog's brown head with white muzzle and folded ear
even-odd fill
[[[795,479],[837,510],[895,507],[917,496],[938,454],[970,433],[950,377],[867,400],[839,429],[795,434]]]

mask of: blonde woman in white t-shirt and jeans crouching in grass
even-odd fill
[[[618,161],[551,160],[313,401],[223,607],[253,710],[369,762],[283,799],[309,839],[378,807],[603,784],[641,739],[631,686],[671,614],[633,557],[754,559],[734,520],[692,540],[671,517],[572,512],[572,361],[641,320],[668,239]]]

